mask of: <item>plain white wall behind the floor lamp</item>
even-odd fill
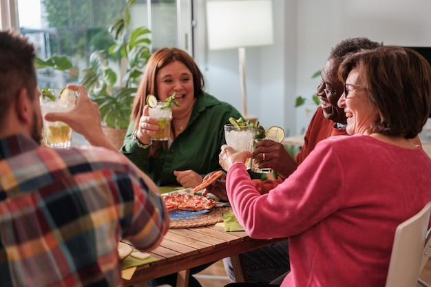
[[[207,91],[241,111],[238,52],[207,50],[206,1],[197,0],[196,61]],[[290,135],[315,110],[313,104],[295,109],[296,96],[315,92],[320,79],[311,76],[339,41],[366,36],[387,45],[431,46],[430,0],[273,0],[273,13],[274,45],[246,49],[247,107],[262,125],[280,125]]]

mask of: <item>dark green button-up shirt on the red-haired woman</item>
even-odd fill
[[[142,149],[132,139],[134,123],[130,123],[121,152],[143,170],[160,187],[178,185],[174,171],[191,169],[205,176],[222,169],[218,163],[220,147],[226,143],[223,126],[229,118],[241,114],[232,105],[204,93],[196,99],[187,127],[157,158],[149,159],[149,149]]]

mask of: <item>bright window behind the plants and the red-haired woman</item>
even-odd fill
[[[87,67],[90,54],[108,50],[114,43],[107,28],[123,17],[127,3],[126,0],[0,1],[3,28],[16,27],[27,35],[39,58],[65,55],[74,65],[67,72],[38,70],[39,87],[76,83],[79,71]],[[180,47],[192,54],[191,3],[192,0],[136,0],[130,9],[129,27],[149,28],[153,50]],[[17,17],[12,17],[14,14]]]

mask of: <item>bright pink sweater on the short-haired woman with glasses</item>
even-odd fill
[[[431,160],[370,136],[336,136],[260,195],[244,164],[227,173],[233,211],[251,237],[289,237],[282,286],[384,286],[398,224],[431,199]]]

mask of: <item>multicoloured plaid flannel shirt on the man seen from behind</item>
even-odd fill
[[[0,139],[0,286],[123,286],[119,237],[149,251],[169,219],[120,154]],[[168,217],[169,218],[169,217]]]

